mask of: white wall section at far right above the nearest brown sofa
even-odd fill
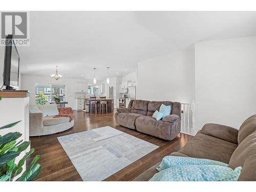
[[[256,37],[195,45],[197,128],[236,127],[256,112]]]

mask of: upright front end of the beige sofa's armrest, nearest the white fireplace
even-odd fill
[[[42,113],[30,113],[29,114],[29,132],[30,135],[36,135],[41,133],[41,128],[44,121],[44,114]]]

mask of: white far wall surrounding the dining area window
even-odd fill
[[[29,97],[29,104],[35,104],[35,84],[36,83],[54,83],[54,84],[65,84],[66,97],[65,100],[68,102],[67,106],[72,109],[75,108],[75,92],[76,82],[86,82],[80,79],[68,79],[61,78],[58,81],[52,79],[50,76],[33,76],[33,75],[22,75],[22,90],[28,90],[31,92]]]

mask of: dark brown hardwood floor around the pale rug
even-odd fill
[[[68,155],[58,142],[57,137],[59,136],[87,131],[102,126],[111,126],[159,146],[157,150],[126,166],[116,174],[106,178],[105,181],[131,181],[147,168],[160,162],[164,156],[178,151],[192,138],[189,135],[179,134],[173,141],[165,141],[131,129],[126,129],[115,123],[114,113],[90,114],[83,111],[75,111],[74,127],[70,130],[48,136],[30,137],[31,148],[35,148],[35,152],[28,159],[27,164],[32,161],[35,155],[39,154],[40,159],[38,163],[42,165],[42,171],[37,181],[82,181]]]

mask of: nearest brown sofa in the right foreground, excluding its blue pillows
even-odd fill
[[[246,119],[240,129],[208,123],[180,151],[172,156],[212,159],[230,168],[242,166],[239,181],[256,181],[256,115]],[[157,163],[133,181],[148,181],[157,173]]]

